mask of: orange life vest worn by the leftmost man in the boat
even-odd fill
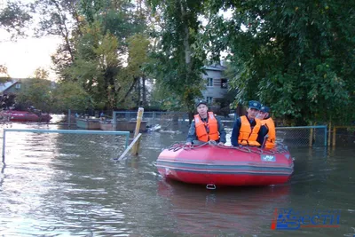
[[[203,122],[200,115],[194,115],[194,127],[196,129],[196,137],[199,141],[207,142],[219,139],[217,119],[212,112],[209,112],[208,116],[209,122]],[[206,130],[207,126],[209,126],[209,133]]]

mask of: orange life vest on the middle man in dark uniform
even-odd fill
[[[259,119],[255,119],[256,125],[251,130],[250,122],[248,122],[247,116],[241,116],[241,130],[239,130],[238,143],[248,146],[260,146],[260,143],[256,141],[257,133],[261,128],[261,122]]]

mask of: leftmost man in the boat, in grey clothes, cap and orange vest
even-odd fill
[[[196,103],[198,115],[194,115],[187,134],[186,145],[193,145],[193,140],[208,142],[217,141],[218,145],[225,144],[225,128],[213,112],[208,112],[207,102],[200,100]],[[196,143],[196,142],[195,142]]]

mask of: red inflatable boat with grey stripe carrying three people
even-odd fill
[[[268,186],[286,183],[294,163],[287,148],[274,150],[205,144],[164,149],[156,166],[163,178],[216,186]]]

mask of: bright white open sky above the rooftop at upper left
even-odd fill
[[[5,31],[0,31],[0,65],[7,67],[12,78],[32,76],[36,68],[43,67],[50,72],[49,79],[57,79],[51,70],[51,55],[60,43],[59,37],[26,38],[12,42],[6,35]]]

